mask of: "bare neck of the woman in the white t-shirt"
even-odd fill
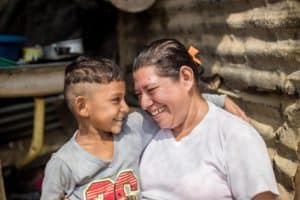
[[[188,105],[188,112],[183,123],[172,129],[175,140],[179,141],[183,137],[189,135],[191,131],[202,121],[207,112],[208,104],[201,96],[191,98]]]

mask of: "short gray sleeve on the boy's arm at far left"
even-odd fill
[[[52,156],[45,168],[41,200],[62,199],[72,188],[72,173],[67,165]]]

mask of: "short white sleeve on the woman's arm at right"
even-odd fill
[[[250,126],[237,126],[231,130],[225,145],[228,182],[233,196],[252,199],[255,195],[270,191],[278,194],[276,180],[266,145]]]

